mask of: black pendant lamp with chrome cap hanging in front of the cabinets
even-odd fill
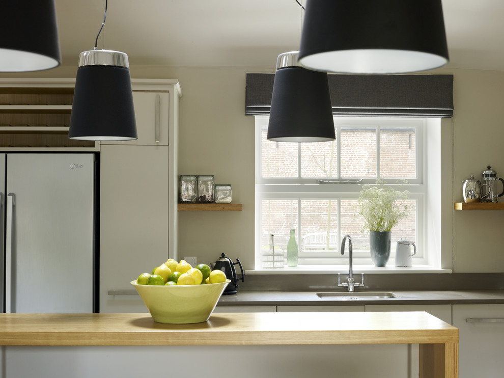
[[[113,50],[80,53],[75,79],[70,139],[137,139],[128,56]]]

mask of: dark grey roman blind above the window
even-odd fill
[[[274,73],[247,73],[245,114],[267,115]],[[329,74],[335,116],[453,117],[453,75]]]

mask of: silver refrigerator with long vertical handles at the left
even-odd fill
[[[95,155],[0,154],[4,312],[97,311]]]

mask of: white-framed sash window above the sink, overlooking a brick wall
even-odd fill
[[[377,177],[387,185],[407,184],[413,209],[392,240],[416,241],[415,264],[424,256],[424,137],[422,118],[334,118],[336,140],[285,143],[266,140],[268,117],[256,116],[256,268],[270,250],[286,251],[296,230],[299,265],[343,263],[341,238],[350,234],[354,264],[372,264],[369,237],[362,234],[356,203],[363,183]],[[391,248],[393,263],[395,243]],[[388,263],[390,264],[390,262]]]

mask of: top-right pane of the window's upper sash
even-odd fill
[[[414,127],[380,127],[380,177],[416,177]]]

